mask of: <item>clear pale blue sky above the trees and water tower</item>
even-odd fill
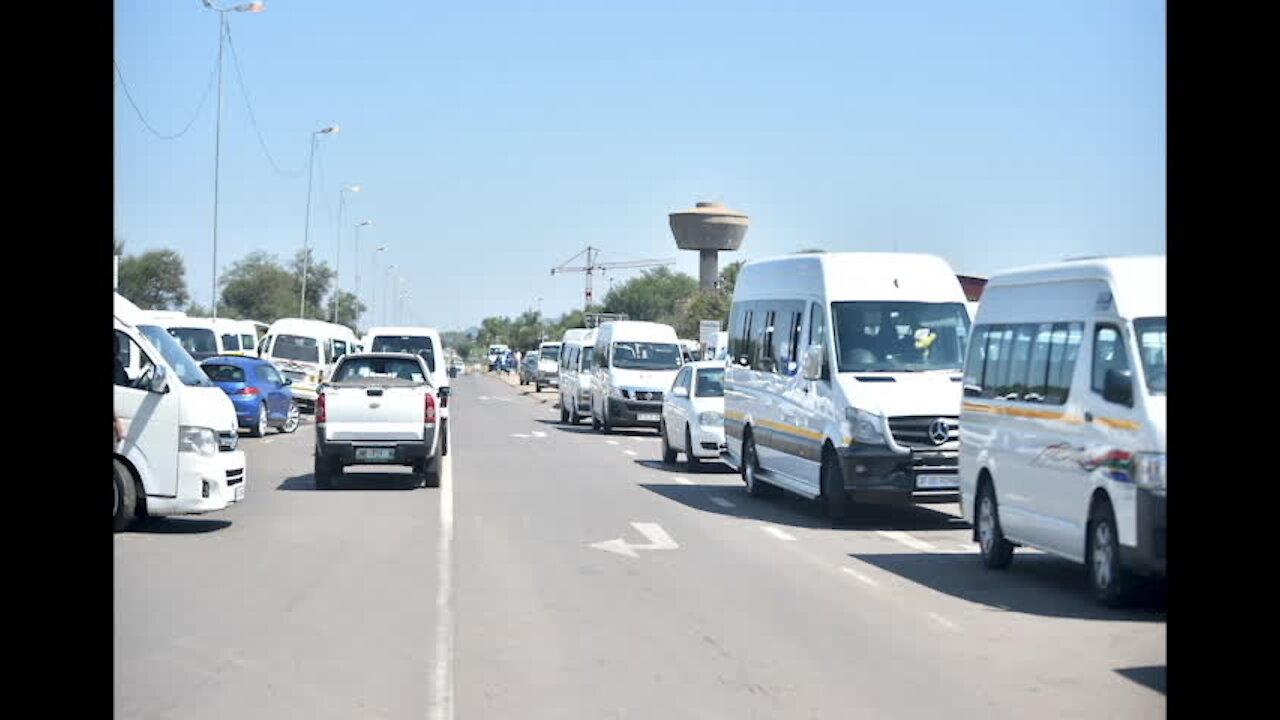
[[[230,4],[229,1],[227,3]],[[173,249],[210,304],[218,17],[198,0],[116,0],[115,233]],[[219,265],[303,242],[335,261],[339,188],[372,249],[407,270],[411,319],[462,329],[543,297],[550,268],[676,258],[667,214],[699,200],[751,217],[722,264],[804,247],[933,252],[960,273],[1165,251],[1165,4],[430,3],[268,0],[228,51]],[[622,282],[639,270],[609,278]],[[378,283],[381,295],[381,282]],[[381,301],[381,297],[379,297]],[[367,324],[367,323],[366,323]]]

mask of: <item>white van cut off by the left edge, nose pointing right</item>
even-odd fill
[[[115,293],[114,527],[244,500],[236,407],[160,325]]]

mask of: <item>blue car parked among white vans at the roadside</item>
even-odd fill
[[[200,364],[209,379],[223,388],[236,406],[236,420],[252,437],[262,437],[266,428],[282,433],[298,429],[298,404],[289,384],[268,360],[239,355],[216,355]]]

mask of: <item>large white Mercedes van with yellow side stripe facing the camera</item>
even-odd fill
[[[829,329],[828,329],[829,328]],[[730,310],[724,460],[751,495],[956,493],[965,296],[946,260],[824,252],[749,263]]]

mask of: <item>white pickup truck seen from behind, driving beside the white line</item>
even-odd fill
[[[316,398],[316,487],[333,487],[347,465],[408,465],[426,487],[439,487],[442,438],[430,378],[419,355],[344,355]]]

